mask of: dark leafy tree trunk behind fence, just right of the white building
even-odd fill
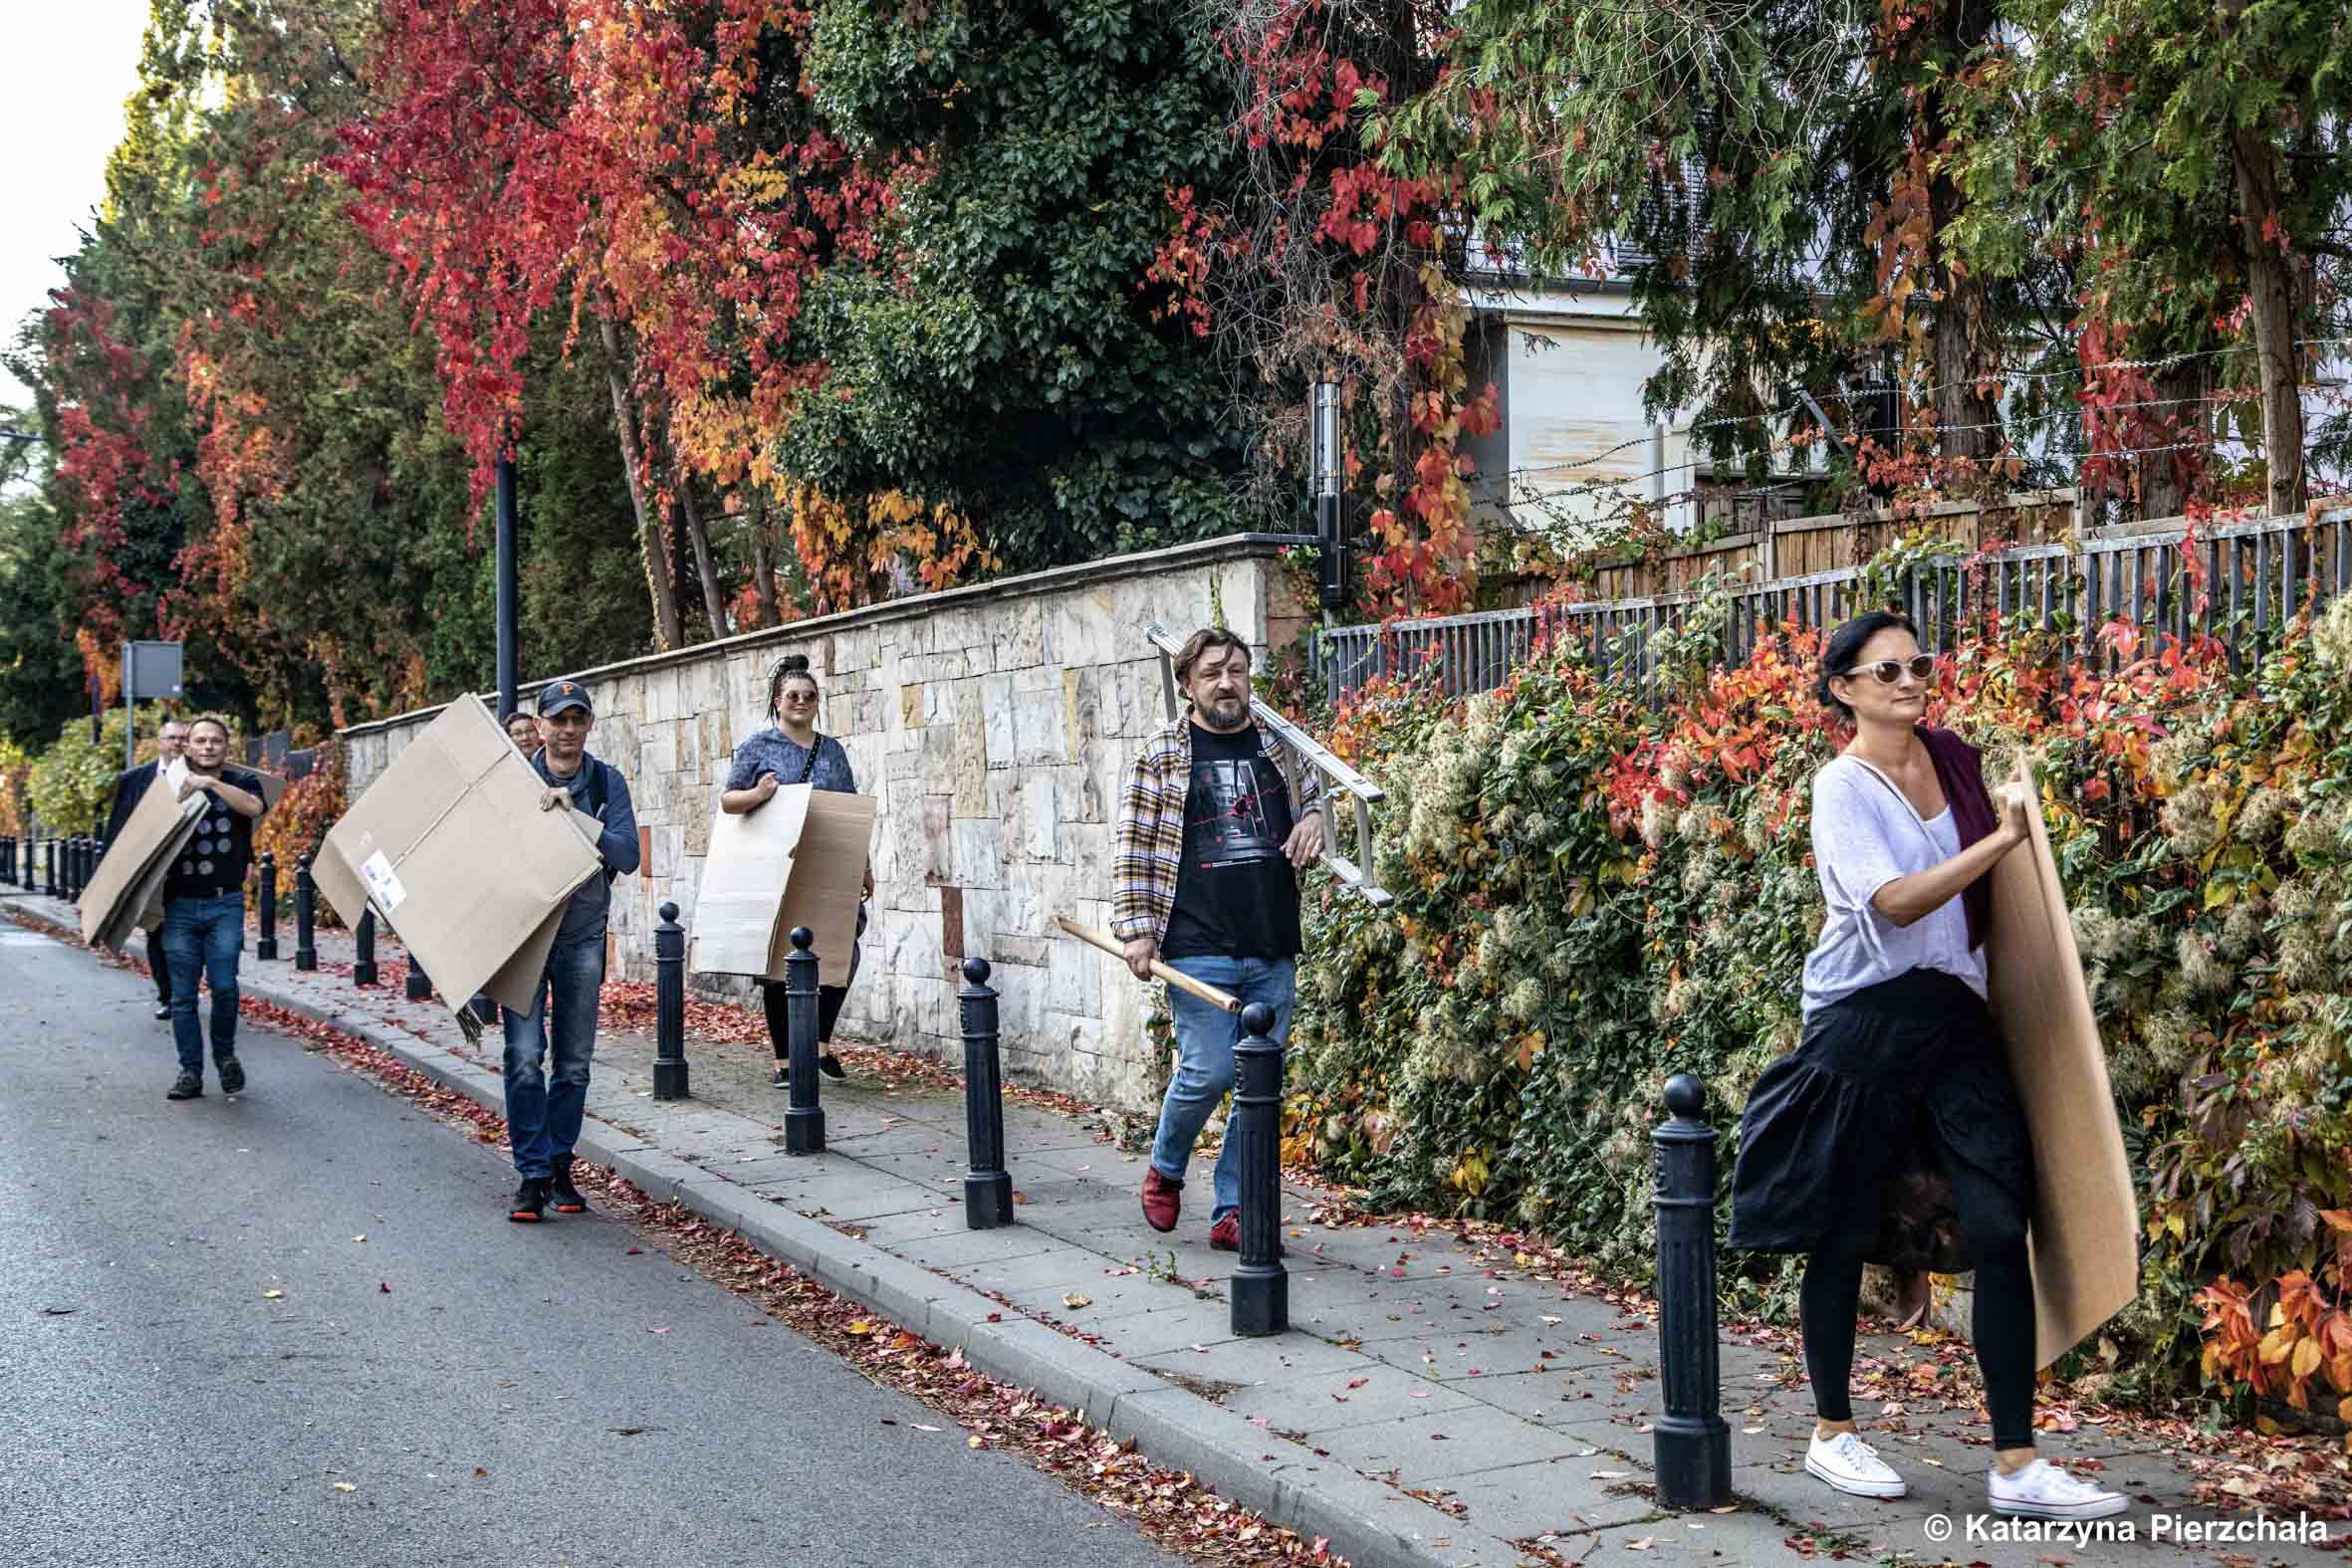
[[[1955,68],[1992,38],[1992,0],[1952,0],[1943,7],[1943,47],[1950,52]],[[1926,92],[1919,139],[1929,153],[1940,153],[1952,136],[1952,125],[1943,108],[1945,92],[1957,92],[1957,87],[1931,87]],[[1962,193],[1959,181],[1952,179],[1950,162],[1945,160],[1926,188],[1929,244],[1933,244],[1936,256],[1929,268],[1929,280],[1936,289],[1936,317],[1929,327],[1929,341],[1936,360],[1936,456],[1947,465],[1962,468],[1987,463],[2002,449],[1999,395],[1980,390],[1983,386],[1999,386],[2002,371],[2002,348],[1992,336],[1990,289],[1978,273],[1952,263],[1950,244],[1945,242],[1945,235],[1959,221],[1966,205],[1969,197]],[[1969,477],[1987,480],[1990,475],[1969,473]]]

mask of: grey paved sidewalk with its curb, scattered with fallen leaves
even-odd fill
[[[0,900],[26,919],[68,919],[42,898]],[[292,943],[280,933],[287,950]],[[320,973],[247,957],[247,992],[362,1034],[496,1107],[496,1032],[466,1046],[440,1004],[348,980],[350,940],[320,936]],[[158,1086],[167,1025],[155,1025]],[[1661,1514],[1649,1495],[1656,1331],[1639,1307],[1581,1291],[1538,1260],[1449,1232],[1345,1222],[1327,1194],[1287,1192],[1291,1333],[1230,1333],[1230,1253],[1207,1248],[1207,1166],[1188,1185],[1174,1237],[1145,1229],[1138,1154],[1096,1117],[1007,1103],[1004,1135],[1018,1225],[964,1227],[964,1112],[955,1093],[823,1084],[828,1152],[781,1150],[786,1093],[767,1084],[764,1044],[689,1037],[694,1098],[652,1098],[652,1039],[597,1041],[583,1154],[656,1197],[677,1197],[875,1312],[983,1371],[1082,1406],[1143,1453],[1195,1472],[1331,1549],[1371,1563],[1710,1563],[1846,1556],[1938,1563],[2103,1563],[2154,1554],[2321,1563],[2324,1549],[2279,1540],[2150,1542],[2159,1516],[2190,1507],[2190,1458],[2114,1422],[2046,1432],[2049,1458],[2093,1469],[2133,1495],[2117,1526],[2138,1540],[2004,1540],[1983,1514],[1990,1462],[1973,1378],[1936,1382],[1950,1345],[1872,1335],[1858,1363],[1865,1434],[1912,1483],[1896,1502],[1844,1497],[1802,1469],[1811,1429],[1804,1368],[1785,1340],[1722,1345],[1724,1418],[1733,1432],[1726,1514]],[[158,1088],[160,1093],[160,1088]],[[1889,1399],[1863,1399],[1882,1387]],[[1936,1396],[1940,1394],[1945,1396]],[[2279,1516],[2272,1516],[2274,1523]],[[2291,1516],[2288,1516],[2291,1519]],[[1936,1530],[1950,1526],[1950,1535]],[[1978,1535],[1973,1530],[1987,1530]],[[2331,1544],[2352,1530],[2331,1521]]]

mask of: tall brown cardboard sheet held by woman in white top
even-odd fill
[[[2037,1366],[2049,1366],[2138,1293],[2140,1208],[2058,860],[2042,811],[2030,816],[2032,839],[1992,872],[1985,969],[2034,1138]]]

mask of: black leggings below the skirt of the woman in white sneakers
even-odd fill
[[[1994,1448],[2034,1446],[2034,1276],[2025,1260],[2025,1215],[2016,1199],[1966,1166],[1952,1173],[1959,1234],[1976,1258],[1976,1366],[1985,1375]],[[1853,1420],[1853,1316],[1863,1302],[1860,1253],[1813,1253],[1797,1295],[1804,1371],[1820,1420]]]

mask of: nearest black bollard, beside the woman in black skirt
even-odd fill
[[[1672,1117],[1651,1133],[1658,1157],[1658,1505],[1731,1502],[1731,1427],[1722,1418],[1715,1338],[1715,1128],[1708,1088],[1689,1072],[1665,1081]]]

